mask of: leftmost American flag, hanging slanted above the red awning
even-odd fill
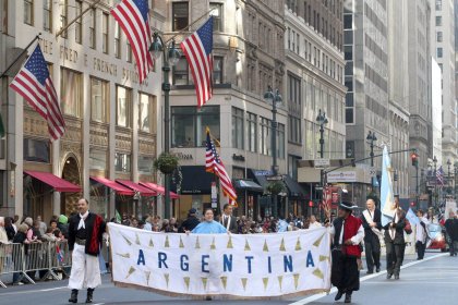
[[[59,107],[59,99],[49,75],[48,66],[39,45],[14,77],[10,87],[24,97],[48,122],[51,141],[65,132],[65,123]]]

